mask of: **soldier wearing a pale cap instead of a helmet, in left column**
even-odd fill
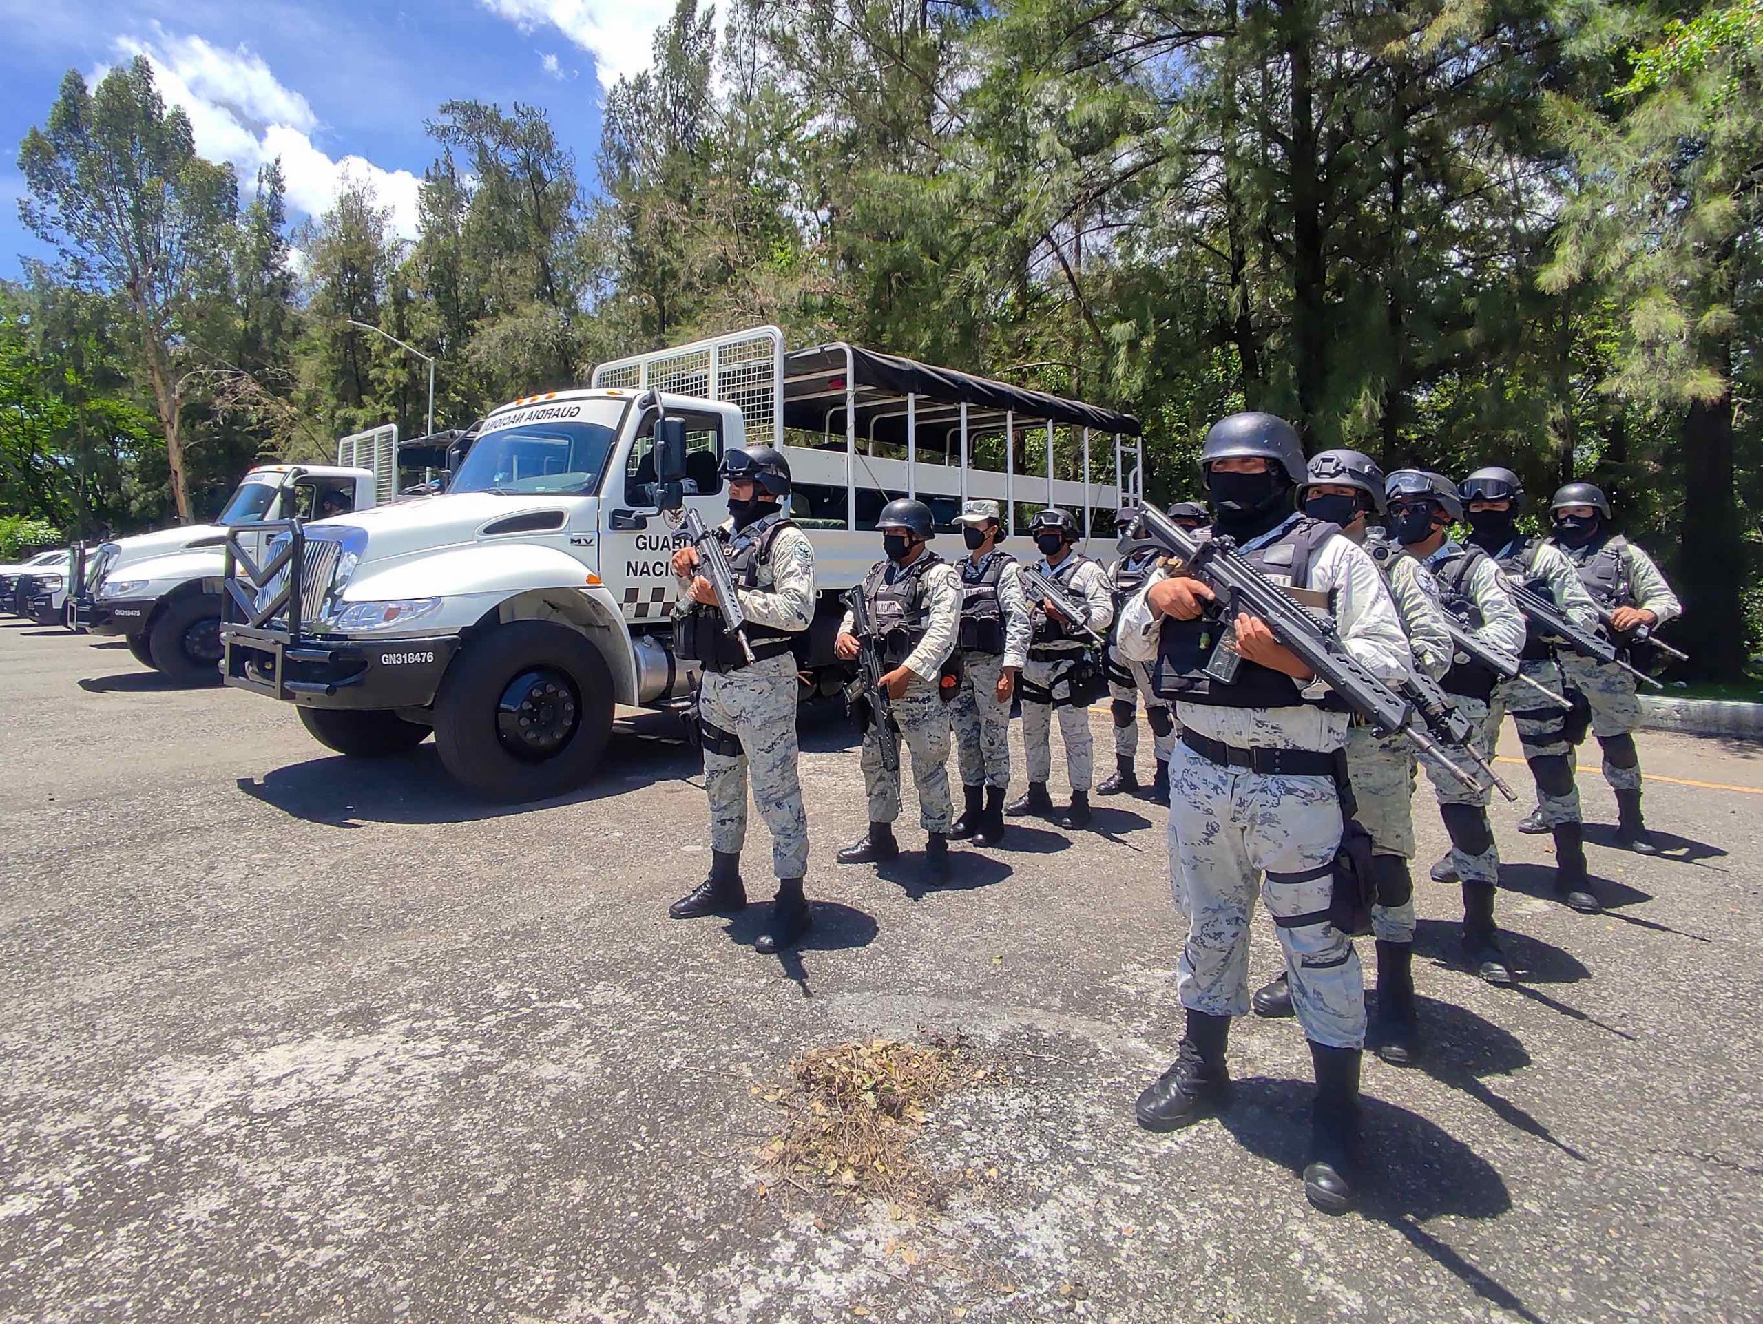
[[[1028,661],[1028,603],[1015,557],[998,550],[1001,515],[996,501],[970,501],[956,517],[968,547],[961,561],[961,688],[950,710],[964,809],[948,836],[971,837],[975,846],[1003,837],[1010,696]]]

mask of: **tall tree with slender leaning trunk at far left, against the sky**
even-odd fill
[[[178,518],[189,520],[180,361],[203,294],[224,275],[233,169],[196,155],[189,118],[166,109],[145,56],[111,69],[95,92],[69,71],[18,164],[30,190],[19,215],[62,254],[65,279],[127,300]]]

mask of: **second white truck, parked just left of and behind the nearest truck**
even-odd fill
[[[213,524],[76,548],[74,580],[85,592],[76,596],[69,622],[93,635],[120,635],[136,661],[175,681],[217,682],[227,531],[236,529],[261,552],[254,529],[384,504],[395,497],[397,480],[398,430],[390,425],[342,437],[335,465],[259,465]]]

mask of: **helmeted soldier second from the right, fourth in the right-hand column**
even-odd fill
[[[1511,469],[1477,469],[1458,488],[1469,517],[1470,547],[1479,547],[1500,571],[1523,582],[1534,592],[1553,598],[1581,629],[1597,628],[1597,608],[1580,585],[1573,564],[1541,538],[1518,532],[1525,490]],[[1573,746],[1567,744],[1567,718],[1560,703],[1539,693],[1560,695],[1562,677],[1550,642],[1527,622],[1520,675],[1500,681],[1488,698],[1490,740],[1499,744],[1500,719],[1507,710],[1518,728],[1525,763],[1537,786],[1537,811],[1518,825],[1520,832],[1548,832],[1555,837],[1555,892],[1569,906],[1597,911],[1597,894],[1585,869],[1585,834],[1580,825],[1580,792],[1573,785]],[[1449,864],[1440,860],[1433,873],[1451,881]]]

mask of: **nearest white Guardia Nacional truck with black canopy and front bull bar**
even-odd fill
[[[282,520],[263,557],[234,534],[226,682],[294,703],[342,755],[397,753],[434,732],[443,765],[476,793],[534,800],[578,786],[615,705],[681,702],[696,679],[672,649],[677,536],[656,502],[658,405],[684,420],[686,502],[705,524],[726,515],[726,450],[763,441],[788,457],[790,515],[815,547],[820,596],[804,695],[844,675],[832,656],[839,594],[882,555],[887,501],[915,495],[948,529],[964,499],[998,499],[1026,557],[1015,531],[1033,510],[1065,506],[1112,545],[1112,513],[1141,488],[1127,414],[848,344],[785,353],[763,326],[502,405],[443,495]],[[1061,432],[1075,478],[1053,476]],[[1112,437],[1105,476],[1091,472],[1098,435]],[[1044,471],[1017,472],[1017,453],[1026,462],[1042,439]],[[978,450],[1001,453],[1003,469],[977,467]],[[959,539],[934,548],[963,555]]]

